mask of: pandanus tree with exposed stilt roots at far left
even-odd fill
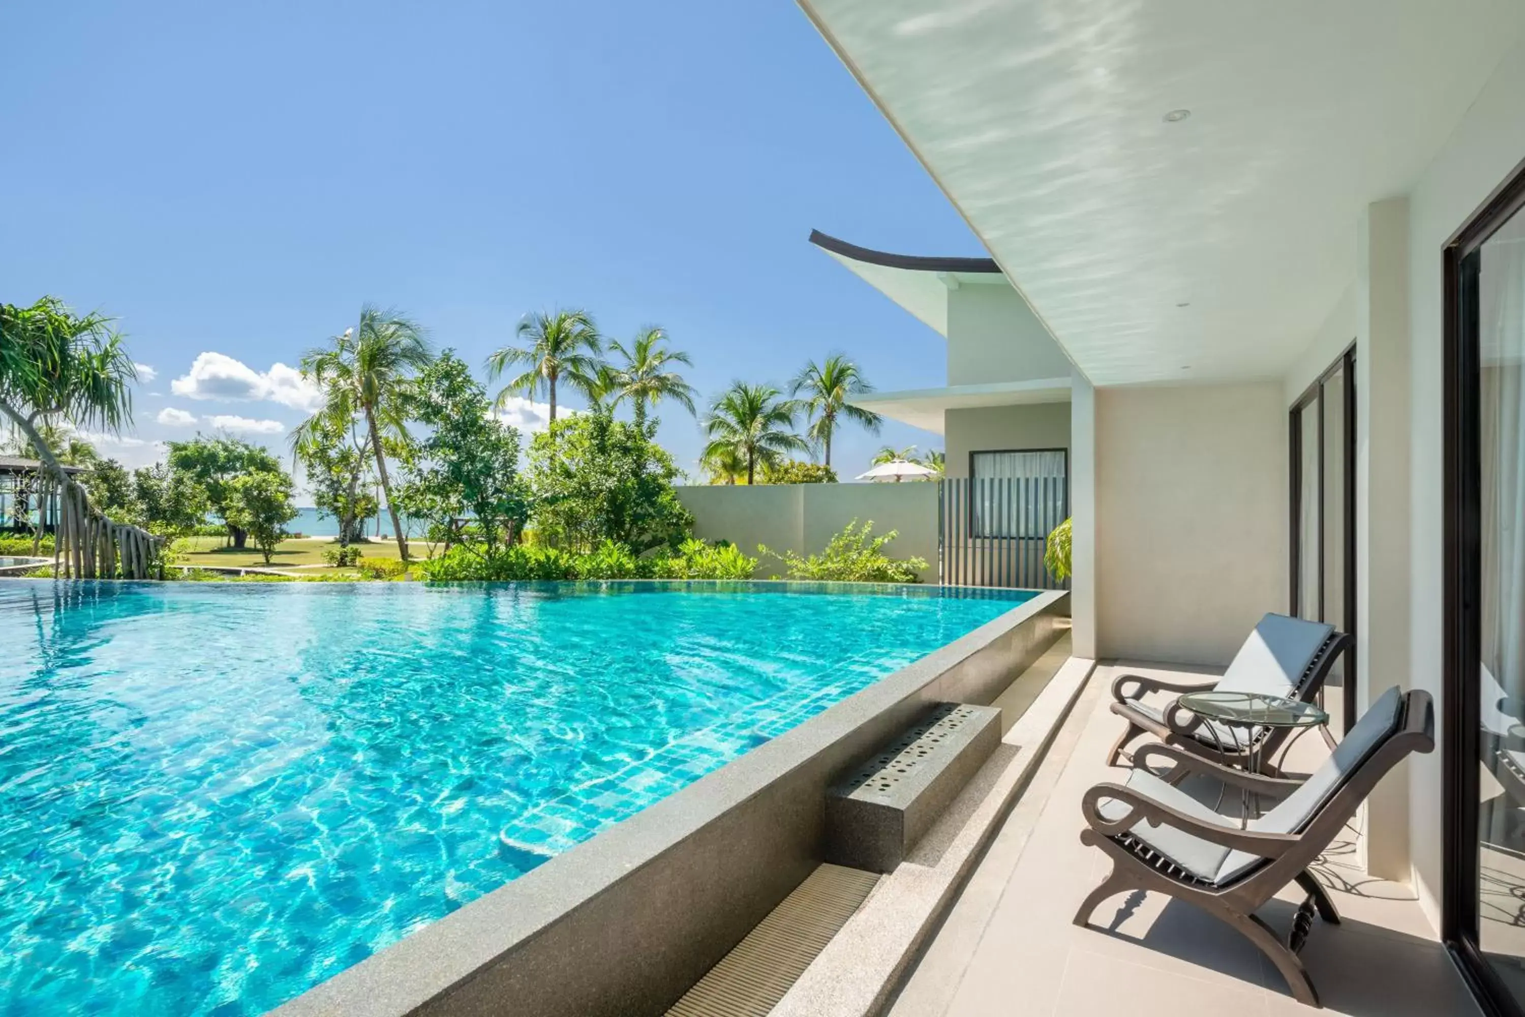
[[[56,297],[30,306],[0,303],[0,415],[43,464],[44,497],[56,497],[59,573],[95,578],[120,570],[146,578],[152,569],[159,538],[95,508],[47,441],[50,427],[116,433],[131,424],[136,377],[110,319],[75,314]]]

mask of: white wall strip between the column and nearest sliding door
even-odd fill
[[[1441,694],[1441,250],[1488,194],[1525,159],[1525,44],[1494,69],[1409,195],[1409,616],[1388,630],[1408,637],[1409,686],[1427,689],[1437,711]],[[1438,727],[1443,730],[1441,724]],[[1440,730],[1437,732],[1440,735]],[[1440,924],[1441,752],[1409,765],[1409,843],[1414,887],[1430,921]]]

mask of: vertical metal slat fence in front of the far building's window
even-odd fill
[[[938,482],[938,581],[1063,590],[1043,566],[1048,535],[1069,517],[1060,477]]]

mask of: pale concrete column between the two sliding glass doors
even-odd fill
[[[1408,198],[1368,206],[1357,227],[1356,605],[1356,694],[1365,711],[1388,688],[1409,685]],[[1363,845],[1372,875],[1409,881],[1405,765],[1372,793]]]

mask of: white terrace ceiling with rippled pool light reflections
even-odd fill
[[[1362,207],[1525,27],[1522,0],[801,5],[1096,384],[1283,374]]]

